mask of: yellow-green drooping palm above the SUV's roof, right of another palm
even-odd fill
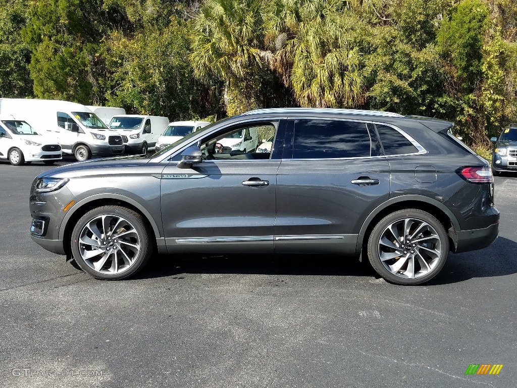
[[[301,106],[358,107],[365,99],[361,56],[349,48],[346,0],[277,0],[266,41],[270,67],[293,88]]]

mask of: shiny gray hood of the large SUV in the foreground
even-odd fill
[[[85,160],[82,162],[71,163],[70,165],[56,167],[39,174],[38,178],[58,177],[73,178],[85,175],[99,175],[107,173],[113,168],[131,168],[145,165],[149,158],[144,156],[117,156],[111,158]]]

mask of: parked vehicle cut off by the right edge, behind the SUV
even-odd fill
[[[499,138],[490,139],[494,144],[492,152],[492,173],[501,171],[517,172],[517,124],[503,128]]]

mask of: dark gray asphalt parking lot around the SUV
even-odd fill
[[[94,280],[29,238],[47,169],[0,162],[2,387],[515,386],[517,174],[495,178],[492,246],[402,287],[312,255],[156,256]]]

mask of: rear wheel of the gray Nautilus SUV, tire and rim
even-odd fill
[[[384,217],[368,240],[374,270],[399,285],[417,285],[433,278],[445,264],[449,239],[442,223],[419,209]]]

